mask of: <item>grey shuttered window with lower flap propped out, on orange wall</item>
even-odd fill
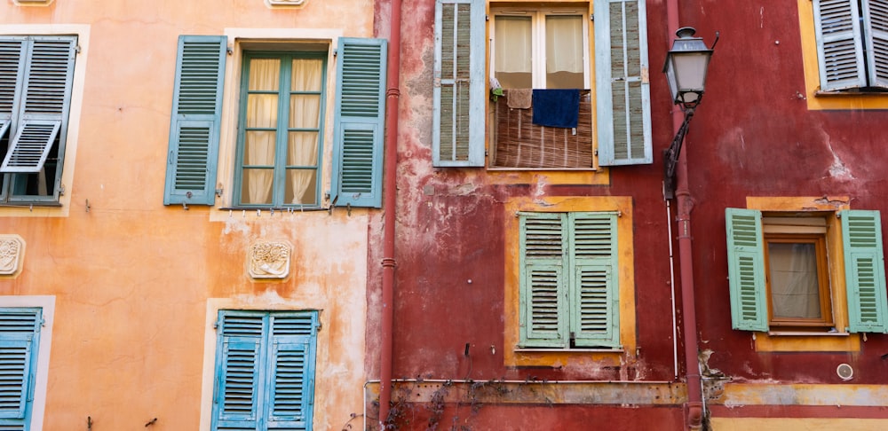
[[[67,153],[67,140],[69,138],[69,129],[72,121],[71,106],[75,98],[75,76],[78,69],[79,57],[78,51],[80,47],[81,37],[78,34],[43,34],[33,33],[26,35],[5,35],[0,34],[10,43],[20,42],[21,54],[19,60],[20,69],[18,75],[13,77],[14,92],[12,96],[12,106],[10,118],[5,119],[4,126],[0,128],[0,138],[6,142],[6,148],[3,154],[0,154],[2,168],[0,168],[0,206],[43,206],[43,207],[59,207],[62,205],[60,197],[64,194],[65,188],[65,157]],[[35,52],[36,43],[43,43],[47,46],[43,51],[42,57],[44,61],[54,64],[54,60],[67,56],[67,65],[64,67],[64,74],[60,68],[54,73],[48,72],[44,75],[43,80],[52,78],[55,85],[47,85],[46,82],[41,85],[42,95],[38,95],[39,99],[46,99],[55,94],[60,94],[61,99],[58,100],[58,112],[53,112],[45,102],[37,102],[36,108],[28,112],[27,98],[30,74],[27,73],[31,67],[31,60]],[[66,43],[67,47],[62,47],[61,43]],[[54,46],[51,48],[49,44]],[[12,48],[12,47],[11,47]],[[62,51],[65,50],[65,51]],[[44,67],[45,68],[45,67]],[[79,89],[78,89],[79,90]],[[52,126],[52,130],[45,129]],[[34,129],[37,128],[37,129]],[[24,131],[31,129],[30,137],[24,137]],[[43,130],[40,130],[43,129]],[[47,134],[48,133],[48,134]],[[13,146],[20,137],[17,146]],[[26,143],[27,141],[27,143]],[[38,141],[40,142],[38,144]],[[38,150],[39,147],[39,150]],[[12,161],[13,151],[28,153],[26,158],[28,162],[23,165],[9,164]],[[39,151],[41,154],[35,161],[34,153]],[[44,176],[41,181],[35,176]],[[33,184],[36,182],[36,184]],[[36,187],[39,189],[40,184],[44,184],[48,194],[29,193],[28,189]],[[19,192],[17,192],[17,189]],[[24,190],[24,192],[20,192]],[[51,192],[50,192],[51,191]]]

